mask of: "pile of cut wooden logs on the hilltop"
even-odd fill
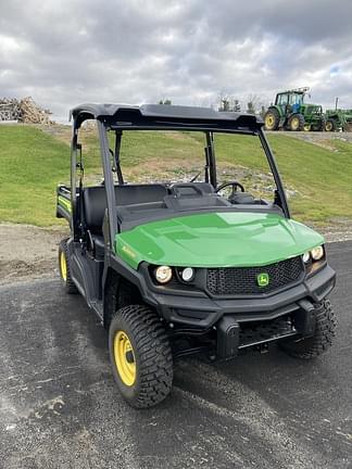
[[[21,100],[16,98],[0,98],[0,121],[18,121],[26,124],[49,125],[51,112],[35,103],[32,97]]]

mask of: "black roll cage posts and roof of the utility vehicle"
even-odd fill
[[[71,223],[74,238],[78,240],[81,234],[80,220],[76,216],[77,198],[83,191],[81,177],[77,188],[77,168],[81,169],[81,148],[78,141],[78,132],[83,123],[87,119],[96,119],[100,141],[100,152],[103,167],[104,188],[106,195],[106,210],[109,219],[110,242],[118,232],[115,194],[115,182],[112,168],[117,176],[117,183],[125,183],[120,165],[120,149],[123,132],[126,130],[187,130],[201,131],[205,136],[205,182],[217,187],[216,157],[214,150],[214,132],[242,134],[259,136],[264,153],[267,157],[275,183],[275,204],[280,206],[284,215],[289,218],[289,207],[285,195],[284,186],[277,169],[275,157],[269,143],[263,132],[263,121],[250,114],[216,112],[212,109],[175,106],[175,105],[141,105],[127,106],[120,104],[83,104],[74,107],[70,113],[73,118],[73,137],[71,145]],[[110,150],[108,131],[115,134],[114,151]],[[77,188],[77,190],[74,190]],[[106,233],[108,234],[108,233]]]

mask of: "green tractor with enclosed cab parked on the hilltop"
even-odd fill
[[[325,116],[318,104],[304,103],[309,88],[297,88],[276,94],[275,104],[265,113],[266,130],[324,130]]]

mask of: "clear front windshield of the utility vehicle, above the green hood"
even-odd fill
[[[84,188],[92,188],[91,193],[99,197],[106,190],[122,231],[190,213],[250,211],[289,216],[261,132],[106,130],[106,150],[101,155],[98,140],[80,132]]]

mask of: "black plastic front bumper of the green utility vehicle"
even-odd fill
[[[116,264],[118,269],[121,264]],[[291,335],[313,335],[316,304],[336,282],[336,272],[325,264],[311,277],[286,289],[248,297],[215,299],[203,291],[155,287],[143,264],[137,272],[127,265],[121,272],[138,287],[143,301],[174,326],[175,332],[208,334],[213,339],[215,335],[216,356],[223,359],[248,346]]]

